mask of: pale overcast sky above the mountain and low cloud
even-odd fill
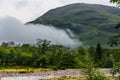
[[[0,18],[12,16],[25,23],[41,16],[50,9],[71,3],[114,6],[109,3],[109,0],[0,0]]]

